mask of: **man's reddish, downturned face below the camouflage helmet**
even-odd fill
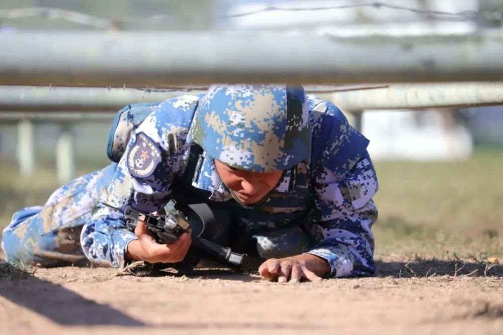
[[[223,183],[244,203],[262,200],[280,181],[283,170],[251,172],[231,168],[216,159],[215,167]]]

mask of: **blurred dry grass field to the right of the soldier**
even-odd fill
[[[503,151],[465,162],[379,162],[376,257],[484,264],[503,258]]]

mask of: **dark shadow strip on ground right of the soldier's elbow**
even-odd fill
[[[503,266],[462,260],[423,260],[410,262],[376,261],[377,277],[425,278],[430,276],[503,277]]]

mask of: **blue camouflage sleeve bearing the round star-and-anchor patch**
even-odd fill
[[[187,132],[197,98],[175,98],[159,104],[131,135],[114,177],[101,191],[100,202],[80,237],[93,262],[124,266],[127,245],[136,236],[126,230],[127,206],[151,213],[171,199],[173,178],[187,165]]]

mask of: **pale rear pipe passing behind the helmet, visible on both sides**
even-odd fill
[[[308,89],[308,87],[306,87]],[[321,92],[321,91],[320,91]],[[99,113],[63,115],[54,111],[117,111],[129,103],[157,102],[191,92],[142,92],[131,88],[0,86],[0,120],[97,119]],[[503,81],[389,84],[314,93],[349,111],[364,109],[473,107],[503,104]],[[14,111],[23,111],[16,114]],[[51,112],[47,112],[47,111]],[[7,111],[7,112],[6,112]],[[25,113],[40,111],[40,113]],[[49,114],[47,114],[49,113]],[[106,116],[105,119],[109,119]]]

